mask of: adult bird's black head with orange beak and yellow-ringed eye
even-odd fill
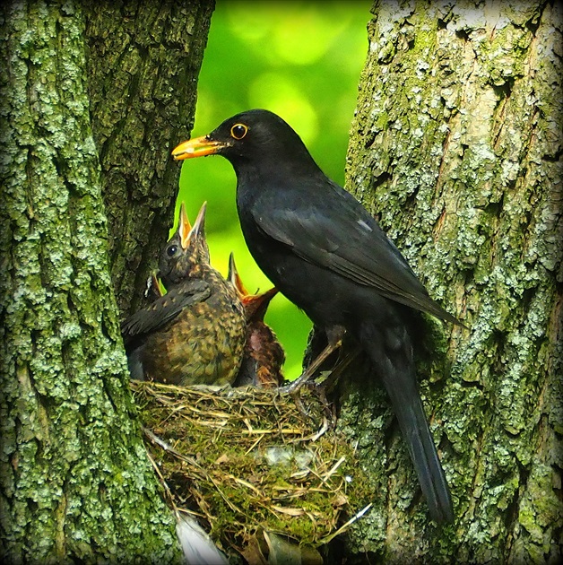
[[[252,109],[226,119],[211,134],[180,143],[172,152],[183,161],[222,155],[235,167],[242,162],[281,164],[313,161],[299,135],[281,117],[265,109]]]

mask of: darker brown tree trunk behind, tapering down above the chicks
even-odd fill
[[[194,126],[214,2],[85,5],[111,275],[119,308],[131,313],[173,220],[180,168],[170,152]]]

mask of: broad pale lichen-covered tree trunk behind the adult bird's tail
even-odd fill
[[[376,492],[358,562],[561,559],[560,10],[373,7],[347,186],[470,329],[429,321],[419,368],[455,525],[429,523],[382,389],[348,391]]]

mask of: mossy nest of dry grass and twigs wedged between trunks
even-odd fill
[[[247,557],[264,532],[318,547],[369,499],[354,449],[308,389],[298,406],[250,387],[131,387],[169,503],[228,553]]]

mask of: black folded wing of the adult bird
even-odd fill
[[[371,286],[386,298],[459,324],[429,297],[400,251],[365,208],[341,187],[331,184],[331,188],[331,194],[325,192],[325,197],[322,193],[317,198],[294,194],[291,207],[283,200],[281,205],[273,204],[270,198],[264,202],[267,213],[264,204],[259,204],[255,221],[267,236],[310,263]]]

